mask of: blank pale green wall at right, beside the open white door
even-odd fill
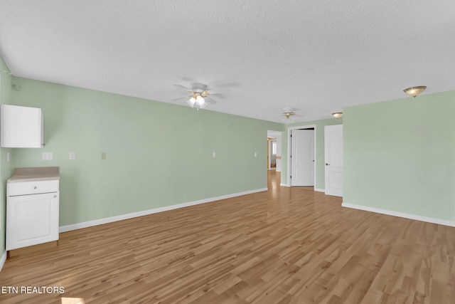
[[[343,112],[343,203],[455,221],[455,91]]]

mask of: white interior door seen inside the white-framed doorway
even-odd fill
[[[314,130],[291,130],[291,186],[314,186]]]

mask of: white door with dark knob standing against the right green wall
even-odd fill
[[[327,195],[343,196],[343,125],[324,127]]]

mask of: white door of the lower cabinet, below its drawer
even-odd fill
[[[59,192],[9,196],[6,250],[58,240]]]

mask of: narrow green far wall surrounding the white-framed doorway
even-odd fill
[[[289,128],[305,127],[314,125],[316,130],[316,189],[325,188],[325,166],[324,166],[324,127],[326,125],[343,125],[343,118],[331,118],[326,120],[311,120],[286,125],[286,132],[282,137],[282,184],[288,184],[287,164],[289,161],[288,141],[290,139]]]

